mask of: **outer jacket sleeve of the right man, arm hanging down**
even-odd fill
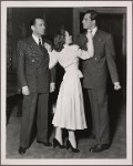
[[[114,44],[113,44],[113,38],[111,34],[106,35],[105,56],[106,56],[108,69],[111,74],[112,82],[113,83],[119,82],[119,74],[117,74],[116,64],[115,64]]]

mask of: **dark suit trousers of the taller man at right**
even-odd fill
[[[92,110],[92,132],[98,144],[110,143],[106,89],[88,89]]]

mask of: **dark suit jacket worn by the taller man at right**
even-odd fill
[[[86,50],[88,39],[85,33],[80,34],[78,44],[82,50]],[[112,82],[119,81],[115,65],[115,53],[113,39],[110,33],[98,30],[93,37],[94,56],[82,61],[83,86],[86,89],[105,89],[108,80],[108,70]]]

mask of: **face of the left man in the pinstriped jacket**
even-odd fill
[[[43,35],[45,30],[44,21],[42,19],[35,19],[35,23],[31,27],[31,29],[37,35]]]

